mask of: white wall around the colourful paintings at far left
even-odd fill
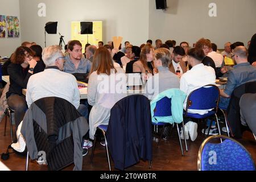
[[[0,2],[0,15],[19,16],[19,0],[1,0]],[[6,31],[7,36],[7,31]],[[0,56],[10,56],[17,47],[21,44],[19,38],[1,38],[0,39]]]

